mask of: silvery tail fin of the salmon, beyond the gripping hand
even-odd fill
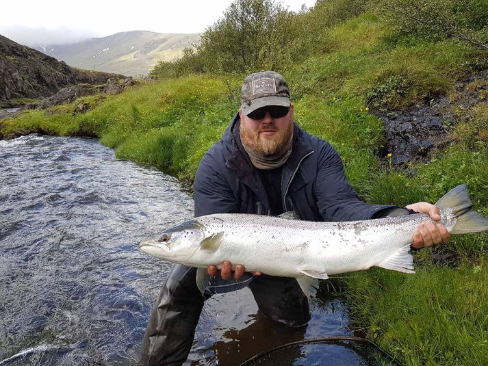
[[[452,234],[480,233],[488,231],[488,219],[474,211],[473,203],[465,184],[458,185],[446,193],[435,204],[440,209],[450,208],[456,216]]]

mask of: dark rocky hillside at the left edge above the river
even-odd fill
[[[65,86],[121,75],[79,70],[0,35],[0,103],[49,96]]]

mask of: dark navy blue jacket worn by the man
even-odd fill
[[[222,139],[203,157],[194,181],[195,216],[211,213],[269,213],[259,174],[240,148],[235,114]],[[351,221],[378,217],[395,206],[361,202],[344,174],[339,154],[295,124],[292,154],[283,166],[283,211],[302,220]]]

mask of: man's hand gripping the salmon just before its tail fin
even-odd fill
[[[441,220],[441,213],[439,207],[427,202],[418,202],[408,205],[405,208],[411,209],[418,213],[428,213],[434,221]],[[433,222],[426,222],[417,226],[417,231],[413,233],[412,247],[415,249],[426,248],[434,244],[446,243],[450,238],[450,233],[446,226],[442,224],[434,224]]]

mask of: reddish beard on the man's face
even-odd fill
[[[266,128],[277,131],[272,136],[265,136],[259,134],[259,131],[254,131],[249,127],[246,127],[241,123],[240,136],[242,144],[251,148],[254,153],[261,156],[270,156],[278,153],[282,153],[290,143],[290,139],[293,135],[293,122],[290,123],[284,129],[278,129],[274,123],[269,123]],[[266,130],[266,129],[261,129]]]

